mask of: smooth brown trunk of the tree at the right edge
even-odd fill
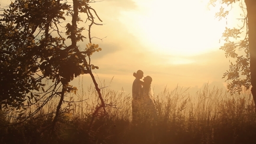
[[[248,18],[252,95],[256,111],[256,0],[245,0]]]

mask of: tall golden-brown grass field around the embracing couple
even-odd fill
[[[229,95],[208,85],[196,94],[187,89],[164,90],[155,95],[158,120],[154,125],[131,123],[131,95],[102,85],[107,113],[100,111],[91,130],[98,99],[92,86],[80,85],[77,95],[67,94],[57,123],[57,134],[47,126],[53,120],[56,101],[22,124],[0,127],[0,144],[254,144],[256,113],[250,93]],[[71,101],[71,102],[70,102]],[[75,102],[79,101],[79,102]],[[29,110],[26,110],[29,112]],[[49,115],[40,115],[48,113]],[[18,115],[18,114],[11,114]],[[2,125],[18,122],[1,112]]]

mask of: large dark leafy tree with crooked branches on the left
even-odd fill
[[[101,25],[95,20],[102,20],[89,6],[90,2],[95,1],[15,0],[2,10],[0,105],[18,110],[42,101],[43,104],[37,106],[33,113],[23,117],[23,121],[26,121],[54,96],[60,96],[53,120],[54,128],[65,93],[76,93],[77,90],[69,82],[79,75],[89,74],[101,100],[95,113],[105,108],[92,74],[92,69],[98,69],[98,66],[92,65],[90,59],[94,52],[102,50],[98,44],[92,43],[91,37],[92,25]],[[85,23],[89,22],[89,43],[86,47],[79,46],[86,38],[82,35],[85,28],[79,27],[79,23],[84,23],[79,15],[87,17]],[[68,19],[71,23],[68,23]]]

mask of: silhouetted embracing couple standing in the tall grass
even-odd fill
[[[135,80],[132,84],[132,122],[134,124],[152,123],[157,117],[154,106],[154,92],[151,88],[152,78],[144,77],[143,71],[138,70],[133,73]]]

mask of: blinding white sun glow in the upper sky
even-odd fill
[[[225,28],[201,0],[137,0],[141,11],[123,13],[134,35],[150,51],[194,56],[219,48]],[[126,22],[125,22],[126,23]],[[132,27],[132,28],[131,28]],[[130,30],[129,29],[129,30]]]

